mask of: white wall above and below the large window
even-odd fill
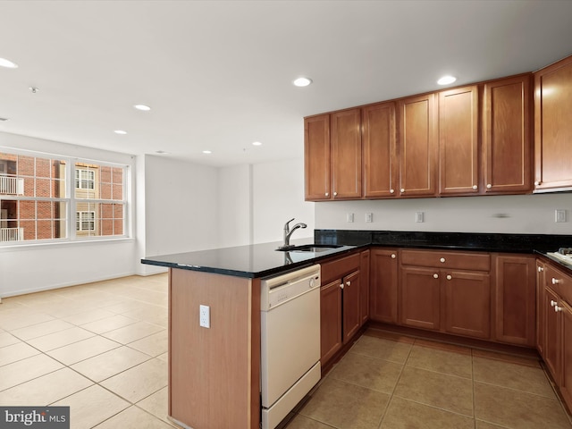
[[[0,132],[0,147],[127,164],[135,170],[133,156],[46,139]],[[127,191],[134,191],[133,183]],[[0,297],[130,275],[135,272],[136,254],[132,238],[0,248]]]

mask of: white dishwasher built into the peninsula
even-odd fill
[[[320,265],[261,282],[262,428],[273,429],[321,377]]]

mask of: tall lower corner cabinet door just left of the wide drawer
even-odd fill
[[[376,322],[397,324],[397,250],[374,248],[371,252],[370,318]]]

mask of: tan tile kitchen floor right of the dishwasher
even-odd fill
[[[370,329],[288,429],[572,428],[540,362]]]

